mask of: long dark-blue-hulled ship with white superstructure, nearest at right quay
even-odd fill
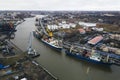
[[[65,48],[65,53],[68,56],[72,56],[77,59],[91,62],[94,64],[102,64],[102,65],[114,64],[114,61],[111,58],[109,58],[109,55],[107,56],[101,55],[99,52],[97,52],[94,49],[91,50],[85,47],[80,47],[80,46],[78,47],[75,45],[71,45],[71,47]]]

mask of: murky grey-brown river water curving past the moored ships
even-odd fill
[[[12,40],[23,51],[27,50],[29,34],[35,29],[35,18],[27,18],[17,26]],[[41,54],[37,61],[59,80],[120,80],[119,66],[98,66],[56,52],[33,37],[33,47]]]

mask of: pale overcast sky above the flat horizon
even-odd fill
[[[0,10],[120,11],[120,0],[0,0]]]

